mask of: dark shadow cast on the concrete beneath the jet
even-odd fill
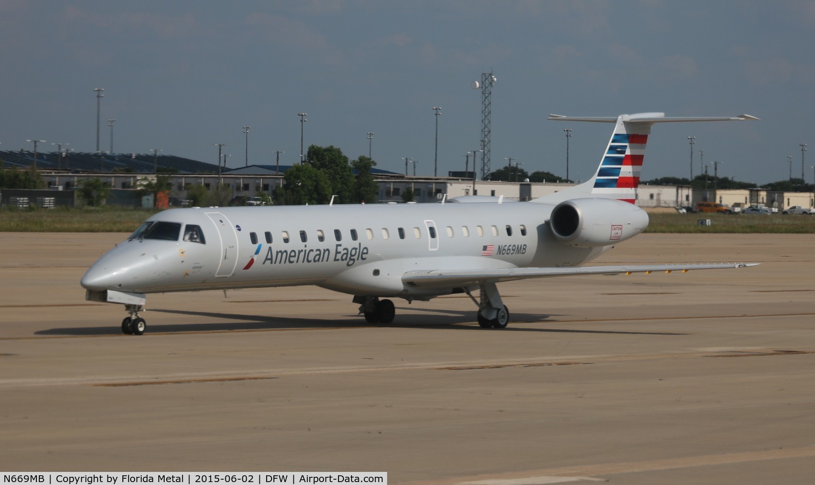
[[[412,308],[397,308],[402,311],[410,311]],[[218,321],[213,323],[184,323],[184,324],[152,324],[151,318],[148,321],[148,334],[155,333],[207,333],[207,332],[229,332],[229,331],[262,331],[262,330],[297,330],[297,329],[336,329],[341,327],[390,327],[390,328],[438,328],[448,330],[479,330],[482,329],[474,321],[474,312],[459,312],[454,310],[428,310],[422,312],[432,312],[434,315],[399,315],[396,321],[389,324],[368,323],[362,316],[346,315],[348,320],[318,320],[315,318],[297,317],[271,317],[269,315],[246,315],[222,312],[196,312],[194,310],[168,310],[154,308],[150,313],[172,313],[177,315],[192,315],[206,319],[219,318],[235,321]],[[443,316],[443,317],[442,317]],[[633,334],[633,335],[685,335],[673,332],[637,332],[621,330],[578,330],[578,329],[546,329],[531,328],[524,326],[527,323],[540,323],[551,317],[550,315],[535,313],[516,313],[512,315],[509,326],[501,331],[512,332],[557,332],[575,334]],[[156,319],[153,319],[156,320]],[[496,330],[496,329],[492,329]],[[117,325],[110,327],[74,327],[39,330],[34,332],[37,335],[64,335],[64,336],[102,336],[121,335],[121,329]]]

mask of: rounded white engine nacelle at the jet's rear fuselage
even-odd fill
[[[648,214],[616,199],[571,199],[557,204],[549,225],[569,246],[603,247],[633,238],[648,227]]]

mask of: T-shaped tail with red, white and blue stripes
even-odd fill
[[[637,202],[637,187],[640,185],[642,161],[645,158],[645,145],[654,123],[676,123],[681,121],[743,121],[758,120],[756,116],[719,117],[666,117],[665,113],[636,113],[614,117],[573,117],[549,115],[549,120],[593,121],[614,123],[614,133],[606,146],[600,165],[593,177],[566,190],[545,195],[535,202],[560,203],[568,199],[618,199],[628,203]]]

